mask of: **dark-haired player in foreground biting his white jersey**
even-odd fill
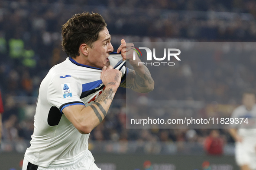
[[[23,170],[100,170],[88,150],[88,138],[107,115],[117,88],[153,90],[149,70],[137,66],[138,57],[133,60],[133,44],[121,40],[121,63],[110,56],[113,46],[106,26],[97,13],[76,14],[62,26],[68,58],[53,66],[40,85]],[[134,70],[123,66],[123,60]]]

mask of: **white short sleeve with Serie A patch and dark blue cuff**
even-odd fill
[[[80,99],[81,87],[81,83],[70,75],[55,76],[49,83],[47,100],[52,106],[58,107],[61,112],[70,105],[84,105]]]

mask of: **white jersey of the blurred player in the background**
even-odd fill
[[[238,134],[243,137],[256,139],[256,104],[252,107],[252,110],[247,110],[244,105],[237,107],[231,117],[239,118],[237,123],[231,124],[231,128],[238,129]]]

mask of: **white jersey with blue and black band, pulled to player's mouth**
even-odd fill
[[[110,65],[126,78],[128,69],[120,55],[110,55]],[[119,62],[120,61],[120,62]],[[25,158],[42,167],[75,161],[88,151],[89,134],[83,135],[62,113],[63,108],[82,104],[89,106],[103,91],[101,69],[77,63],[68,57],[53,66],[39,88],[34,133]],[[91,154],[88,154],[91,155]],[[88,157],[94,161],[94,158]]]

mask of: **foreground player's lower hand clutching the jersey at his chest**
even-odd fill
[[[116,90],[120,85],[121,77],[122,72],[118,69],[113,69],[113,66],[104,66],[100,75],[100,79],[106,87],[111,85],[111,88]]]

